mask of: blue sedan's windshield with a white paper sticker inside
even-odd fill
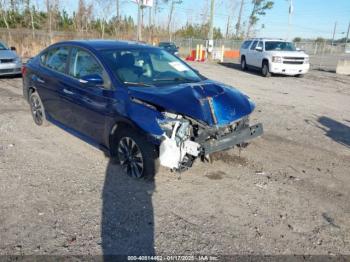
[[[167,85],[201,81],[181,59],[161,49],[105,50],[104,60],[127,85]]]

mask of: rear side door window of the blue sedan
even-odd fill
[[[58,47],[48,51],[44,59],[44,65],[51,68],[52,70],[65,73],[66,64],[68,59],[69,48],[68,47]],[[42,58],[40,57],[40,60]],[[41,60],[42,61],[42,60]]]

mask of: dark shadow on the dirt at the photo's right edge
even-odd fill
[[[326,132],[326,136],[350,148],[350,127],[332,118],[322,116],[317,119],[322,126],[318,127]]]

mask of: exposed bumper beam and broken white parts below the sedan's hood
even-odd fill
[[[159,148],[160,164],[176,171],[190,168],[200,157],[241,146],[263,133],[262,124],[249,126],[244,117],[224,127],[208,126],[186,116],[165,112],[158,120],[164,130]]]

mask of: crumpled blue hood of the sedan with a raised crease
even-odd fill
[[[237,89],[210,80],[164,87],[129,87],[129,92],[131,97],[208,125],[227,125],[255,108]]]

